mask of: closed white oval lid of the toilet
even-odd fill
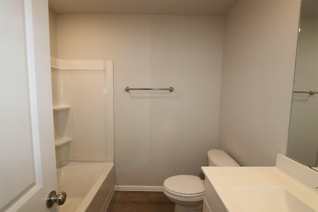
[[[176,175],[163,182],[167,192],[184,197],[198,197],[204,194],[204,185],[201,179],[193,175]]]

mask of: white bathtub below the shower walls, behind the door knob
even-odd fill
[[[113,166],[113,163],[70,162],[58,168],[58,191],[67,193],[60,212],[105,212],[114,193]]]

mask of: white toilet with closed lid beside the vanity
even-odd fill
[[[208,151],[209,166],[239,166],[225,151]],[[194,175],[176,175],[163,182],[163,193],[172,201],[174,212],[202,212],[204,181]]]

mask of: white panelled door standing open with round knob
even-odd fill
[[[47,0],[0,0],[0,212],[56,212]]]

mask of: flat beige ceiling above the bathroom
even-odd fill
[[[62,14],[223,15],[236,0],[49,0]]]

